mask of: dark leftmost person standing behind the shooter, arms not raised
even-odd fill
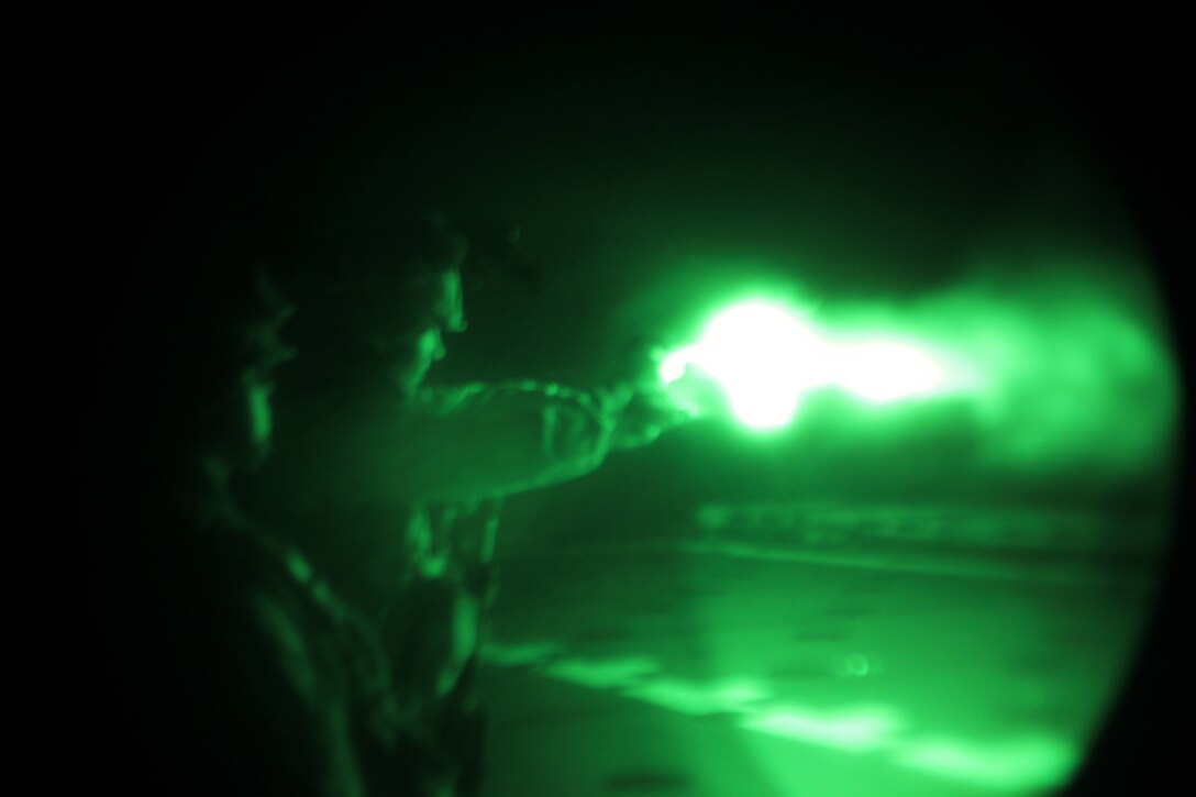
[[[236,481],[268,458],[293,306],[254,263],[136,274],[112,353],[94,787],[288,797],[448,792],[370,623],[262,533]]]

